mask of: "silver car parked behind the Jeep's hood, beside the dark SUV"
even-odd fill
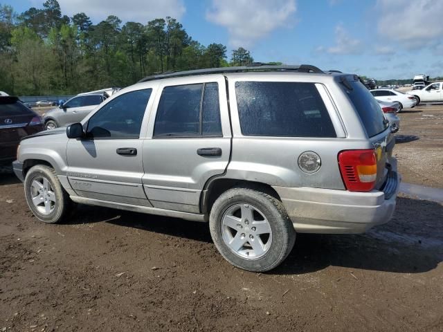
[[[44,113],[44,127],[46,129],[55,129],[80,122],[106,98],[107,96],[103,93],[76,95],[64,102],[60,107]]]

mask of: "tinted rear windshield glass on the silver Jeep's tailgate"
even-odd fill
[[[388,122],[385,121],[379,103],[370,94],[368,89],[358,80],[350,80],[347,83],[349,83],[349,87],[352,87],[352,89],[347,89],[348,87],[345,84],[343,84],[343,88],[359,113],[368,136],[376,136],[388,128]]]

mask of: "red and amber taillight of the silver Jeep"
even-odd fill
[[[338,165],[346,189],[370,192],[377,180],[377,158],[374,149],[346,150],[338,154]]]

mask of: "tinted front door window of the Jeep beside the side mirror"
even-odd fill
[[[139,138],[152,89],[137,90],[111,100],[88,121],[89,138]]]

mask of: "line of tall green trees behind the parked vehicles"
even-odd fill
[[[172,17],[147,24],[111,15],[93,24],[84,12],[62,15],[57,0],[21,14],[0,3],[0,91],[13,95],[75,94],[127,86],[168,71],[244,66],[242,47],[204,46]]]

